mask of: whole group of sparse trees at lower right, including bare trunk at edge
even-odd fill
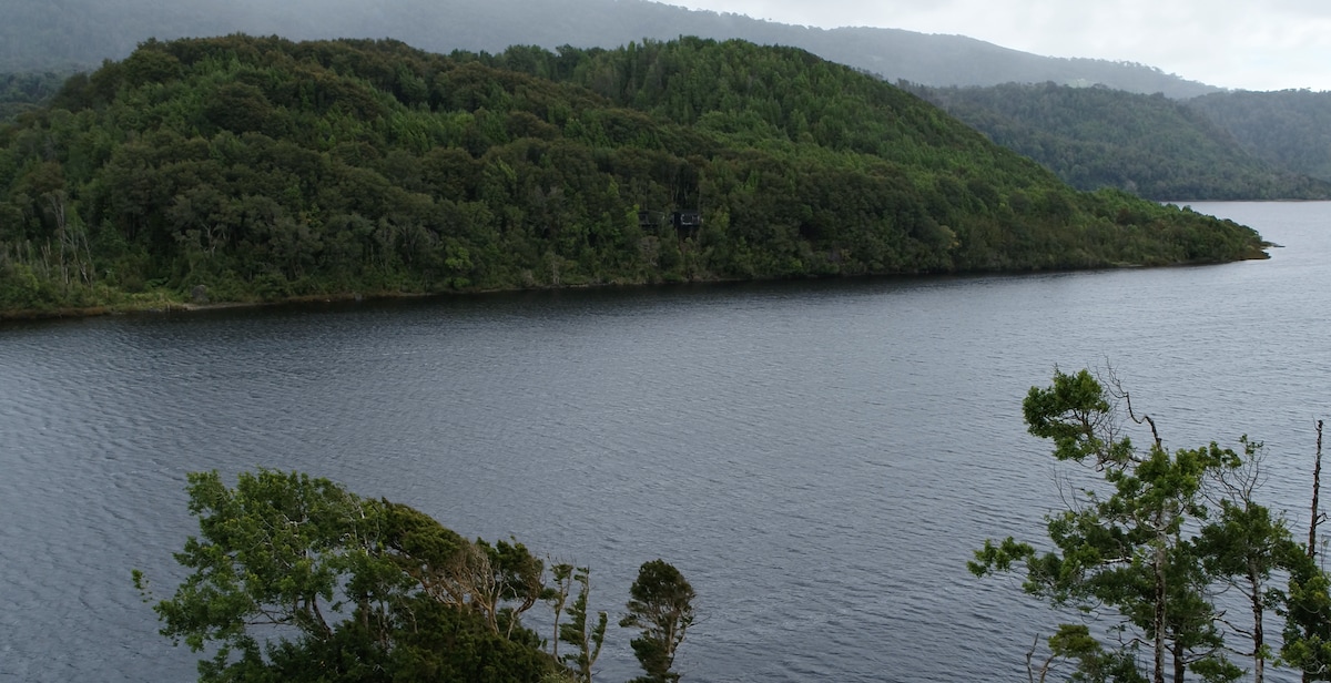
[[[1300,670],[1306,682],[1331,679],[1331,578],[1316,561],[1322,422],[1303,546],[1280,514],[1258,502],[1259,442],[1242,437],[1242,453],[1215,443],[1170,451],[1155,421],[1133,409],[1113,377],[1106,387],[1086,370],[1055,371],[1053,385],[1033,387],[1024,407],[1030,433],[1051,439],[1057,459],[1093,466],[1105,485],[1077,491],[1067,510],[1046,518],[1053,551],[1012,537],[986,541],[969,569],[980,576],[1024,570],[1026,592],[1086,615],[1109,607],[1115,620],[1093,626],[1117,639],[1109,646],[1087,624],[1061,624],[1044,648],[1037,638],[1026,654],[1033,683],[1062,663],[1073,664],[1071,680],[1091,682],[1182,683],[1191,674],[1260,683],[1272,663]],[[1149,449],[1133,445],[1123,418],[1149,427]],[[1239,598],[1244,614],[1217,607],[1222,595],[1230,604]],[[1271,614],[1284,616],[1274,660]],[[1145,672],[1137,663],[1142,650],[1153,655]]]

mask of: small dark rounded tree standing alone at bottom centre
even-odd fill
[[[619,626],[642,628],[642,634],[631,644],[647,675],[635,682],[679,680],[679,674],[671,671],[671,667],[675,664],[675,652],[684,642],[684,632],[693,623],[693,587],[672,565],[654,559],[638,570],[638,579],[630,594],[628,614]]]

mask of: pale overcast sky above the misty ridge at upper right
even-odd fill
[[[1222,88],[1331,91],[1331,0],[664,0],[811,27],[956,33]]]

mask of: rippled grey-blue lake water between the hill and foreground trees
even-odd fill
[[[0,679],[188,680],[185,473],[302,470],[592,567],[666,558],[685,680],[1025,679],[1057,615],[978,580],[1059,505],[1021,399],[1111,363],[1170,446],[1250,434],[1306,525],[1331,418],[1331,204],[1194,204],[1284,245],[1207,268],[555,292],[0,328]],[[531,626],[544,628],[535,619]],[[636,664],[611,628],[600,680]]]

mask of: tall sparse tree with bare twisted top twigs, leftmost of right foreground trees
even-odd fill
[[[1024,402],[1032,434],[1054,442],[1054,457],[1101,471],[1105,487],[1078,491],[1070,510],[1047,518],[1054,551],[1040,554],[1008,538],[986,541],[969,563],[977,575],[1025,566],[1025,590],[1058,606],[1119,612],[1113,628],[1151,652],[1150,680],[1173,680],[1191,670],[1207,680],[1239,675],[1221,651],[1215,611],[1206,592],[1201,555],[1185,527],[1206,515],[1203,485],[1239,465],[1215,443],[1166,450],[1147,415],[1138,417],[1115,383],[1105,389],[1089,371],[1054,373],[1053,385],[1033,387]],[[1150,427],[1143,451],[1126,435],[1125,418]],[[1050,643],[1050,647],[1054,647]]]

